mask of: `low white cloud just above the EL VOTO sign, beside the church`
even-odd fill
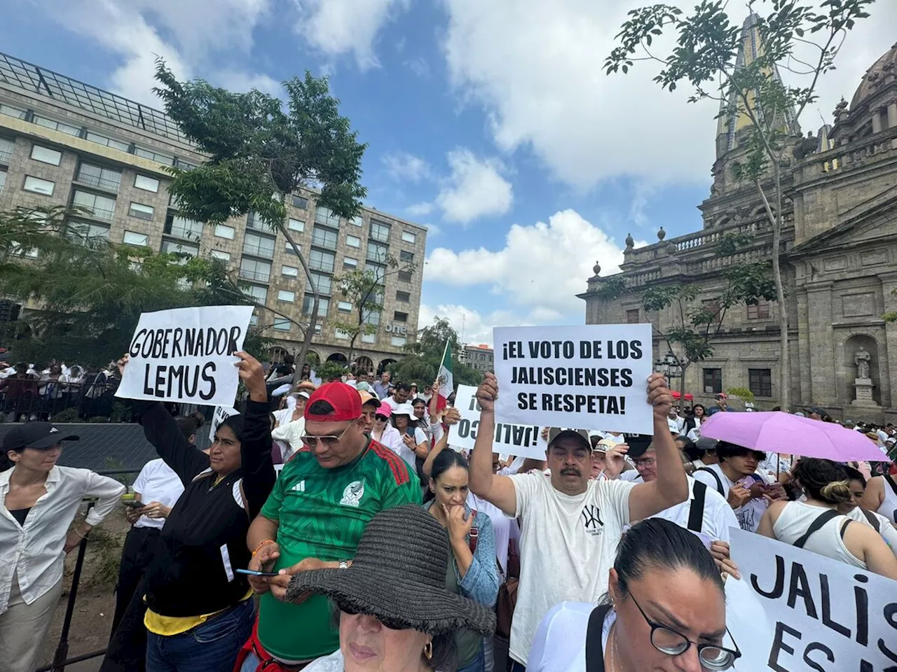
[[[596,261],[602,275],[613,273],[623,262],[623,248],[578,212],[564,210],[548,223],[515,224],[498,251],[438,247],[427,258],[424,280],[455,287],[486,285],[531,311],[528,319],[545,323],[584,313],[585,304],[576,295],[586,290]]]

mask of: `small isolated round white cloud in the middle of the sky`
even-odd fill
[[[503,215],[514,202],[510,183],[498,159],[480,159],[466,149],[448,152],[448,177],[436,197],[443,218],[467,224],[488,215]]]

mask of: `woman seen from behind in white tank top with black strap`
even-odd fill
[[[805,457],[797,462],[793,476],[806,501],[773,502],[763,513],[757,531],[897,580],[897,557],[884,539],[875,530],[838,513],[838,506],[849,503],[853,497],[843,466]]]

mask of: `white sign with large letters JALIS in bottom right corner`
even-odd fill
[[[741,650],[756,649],[763,661],[759,668],[736,669],[897,670],[897,582],[759,534],[730,531],[732,559],[768,619],[732,624]],[[757,626],[769,635],[759,636]]]

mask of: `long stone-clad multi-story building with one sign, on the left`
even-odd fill
[[[70,234],[211,255],[248,282],[257,303],[307,323],[311,293],[283,235],[251,212],[213,226],[171,202],[164,168],[204,159],[161,111],[0,54],[0,211],[82,206],[91,214],[71,221]],[[358,313],[334,278],[355,269],[382,274],[384,289],[383,312],[370,317],[377,331],[359,337],[353,359],[379,370],[400,358],[416,332],[426,228],[373,208],[345,220],[309,191],[290,194],[287,209],[322,295],[311,358],[346,361],[349,340],[334,323]],[[388,256],[414,271],[388,271]],[[298,352],[303,334],[291,320],[267,310],[253,319],[274,339],[275,360]]]

